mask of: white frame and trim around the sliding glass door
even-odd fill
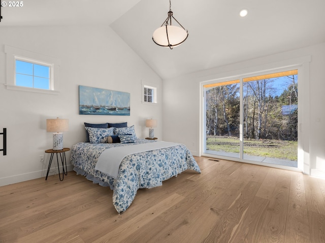
[[[203,80],[200,82],[200,142],[199,142],[199,155],[207,156],[207,157],[215,157],[226,160],[239,161],[248,164],[255,164],[261,166],[269,166],[273,168],[286,169],[291,171],[299,171],[304,174],[310,175],[310,158],[309,158],[309,113],[310,113],[310,101],[309,101],[309,63],[311,61],[311,56],[299,57],[296,59],[285,60],[277,63],[272,63],[269,65],[260,67],[256,67],[255,70],[258,71],[247,71],[241,72],[237,75],[228,75],[223,77],[210,78],[208,80]],[[221,155],[213,155],[204,152],[204,146],[206,141],[206,128],[205,128],[205,92],[204,85],[213,84],[213,83],[221,83],[226,80],[240,79],[240,92],[242,94],[242,79],[245,77],[263,75],[271,72],[280,72],[281,70],[292,70],[298,69],[298,168],[282,166],[282,165],[274,165],[267,163],[259,163],[258,161],[251,161],[243,159],[243,125],[242,125],[242,115],[243,115],[243,104],[242,97],[240,100],[240,158],[221,156]],[[304,114],[304,115],[302,115]]]

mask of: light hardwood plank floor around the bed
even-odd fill
[[[196,157],[118,215],[112,191],[69,172],[0,187],[0,242],[325,242],[325,181]]]

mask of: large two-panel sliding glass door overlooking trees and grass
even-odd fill
[[[209,82],[204,153],[298,167],[298,69]]]

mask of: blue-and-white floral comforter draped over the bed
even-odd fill
[[[75,171],[82,170],[84,175],[92,175],[113,189],[113,205],[119,214],[132,204],[139,188],[160,186],[163,181],[187,169],[201,173],[192,154],[182,144],[127,155],[121,161],[116,180],[94,169],[105,149],[147,142],[154,141],[137,139],[136,143],[131,144],[80,142],[72,147],[71,164],[75,166]]]

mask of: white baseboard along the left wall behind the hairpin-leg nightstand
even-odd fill
[[[72,171],[73,167],[74,167],[73,165],[67,165],[68,171]],[[56,174],[58,173],[57,168],[51,168],[49,176],[55,174],[55,173],[53,173],[54,170],[55,170]],[[60,172],[62,173],[62,167],[60,167]],[[46,170],[35,171],[35,172],[26,173],[26,174],[0,178],[0,186],[6,186],[6,185],[18,183],[18,182],[34,180],[34,179],[38,179],[38,178],[42,178],[42,177],[44,177],[44,180],[45,180],[46,173],[47,173],[47,168],[46,168]]]

